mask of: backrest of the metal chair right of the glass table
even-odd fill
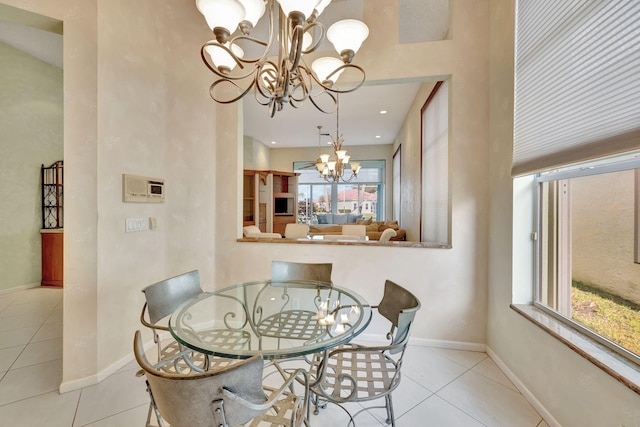
[[[384,295],[378,304],[378,312],[392,324],[391,344],[403,343],[391,353],[402,351],[406,346],[413,319],[419,309],[420,301],[411,292],[391,280],[384,283]]]

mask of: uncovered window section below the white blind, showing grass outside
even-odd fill
[[[640,156],[539,174],[536,303],[640,362]]]

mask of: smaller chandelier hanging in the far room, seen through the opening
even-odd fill
[[[333,147],[333,158],[330,158],[329,154],[320,154],[318,159],[316,160],[316,169],[320,172],[320,176],[322,176],[327,182],[351,182],[358,176],[358,172],[360,172],[360,163],[351,162],[349,163],[349,159],[351,156],[347,154],[347,150],[342,149],[342,144],[344,143],[344,137],[340,134],[340,126],[339,126],[339,105],[337,103],[336,98],[336,137],[329,135],[328,133],[322,133],[322,126],[318,126],[318,150],[321,151],[320,148],[320,139],[322,135],[329,135],[331,138],[331,146]],[[349,167],[350,166],[350,167]],[[347,169],[351,169],[351,176],[345,178],[344,173]]]

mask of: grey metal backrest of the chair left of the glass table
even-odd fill
[[[173,313],[183,302],[203,293],[200,273],[193,270],[149,285],[142,292],[147,300],[149,321],[155,324]]]

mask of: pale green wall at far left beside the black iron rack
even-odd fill
[[[63,158],[62,70],[0,43],[0,293],[40,284],[40,166]]]

